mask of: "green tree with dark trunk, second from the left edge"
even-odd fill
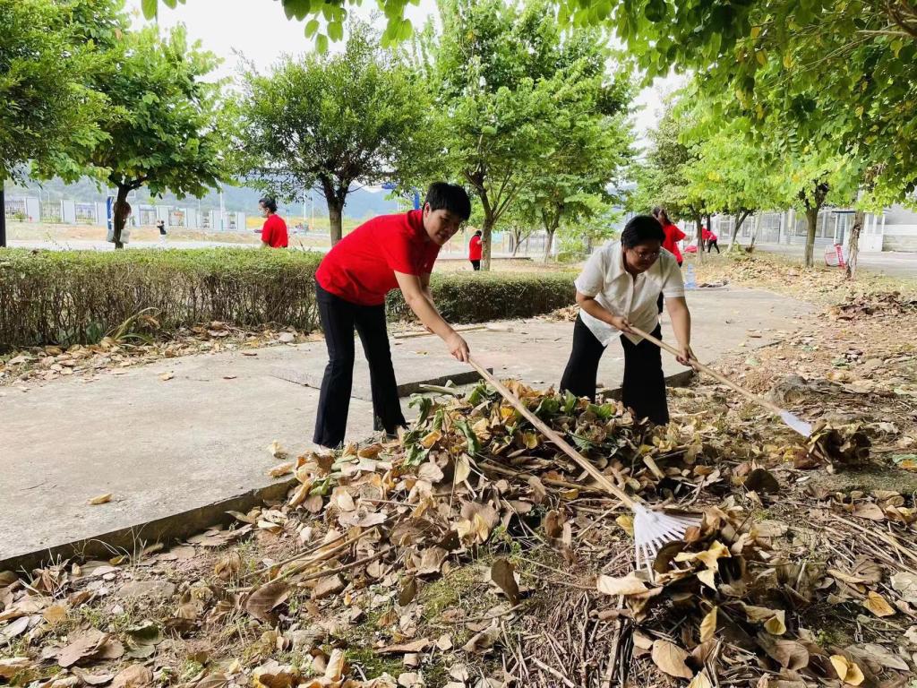
[[[114,240],[124,248],[127,194],[146,185],[180,198],[203,196],[229,178],[220,83],[206,81],[217,61],[189,45],[183,28],[127,32],[110,51],[98,88],[109,103],[105,143],[88,158],[116,188]]]

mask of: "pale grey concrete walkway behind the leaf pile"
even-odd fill
[[[698,290],[689,303],[693,348],[707,362],[743,342],[750,350],[779,339],[779,330],[794,329],[795,318],[811,312],[783,296],[739,289]],[[539,387],[558,383],[572,323],[515,320],[490,327],[466,336],[498,376]],[[674,341],[665,320],[663,336]],[[393,338],[392,358],[400,385],[468,373],[434,336]],[[667,375],[685,370],[668,354],[663,361]],[[279,482],[267,474],[280,462],[267,449],[273,440],[293,458],[309,448],[318,390],[308,385],[318,383],[325,363],[319,342],[258,350],[257,356],[234,351],[163,360],[88,382],[56,380],[27,393],[0,387],[0,562],[191,515],[204,505],[226,505],[215,513],[238,508],[234,499]],[[623,354],[613,344],[600,381],[615,387],[622,372]],[[357,361],[348,438],[371,433],[368,382],[365,362]],[[110,503],[87,504],[106,493],[113,494]],[[155,540],[165,532],[147,527],[135,536]]]

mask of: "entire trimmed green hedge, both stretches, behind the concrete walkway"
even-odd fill
[[[0,350],[100,340],[151,308],[171,331],[220,320],[319,327],[315,269],[322,255],[296,250],[0,250]],[[450,322],[528,317],[573,303],[568,272],[434,274],[436,305]],[[389,319],[413,318],[400,292]]]

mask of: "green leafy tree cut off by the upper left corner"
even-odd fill
[[[27,163],[38,177],[73,172],[105,138],[105,96],[93,83],[99,44],[120,30],[116,8],[108,0],[0,0],[0,209],[4,181],[21,178]]]

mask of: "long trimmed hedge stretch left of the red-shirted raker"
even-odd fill
[[[317,327],[321,255],[249,249],[0,251],[0,348],[89,343],[141,310],[164,330]]]

